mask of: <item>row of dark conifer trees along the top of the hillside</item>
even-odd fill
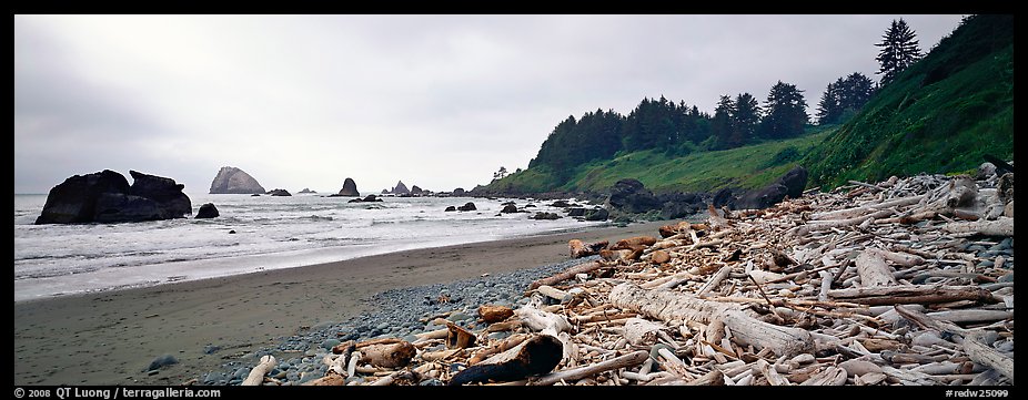
[[[881,82],[875,84],[859,72],[828,83],[817,105],[816,123],[844,123],[866,104],[883,84],[887,84],[920,57],[916,35],[900,19],[893,21],[875,44],[881,48],[876,60]],[[763,140],[800,135],[812,123],[804,91],[778,81],[759,102],[750,93],[722,95],[710,115],[684,101],[643,99],[628,115],[613,110],[570,115],[558,123],[528,167],[548,166],[560,180],[571,176],[574,167],[594,160],[608,160],[616,153],[655,150],[668,156],[695,151],[726,150]],[[505,172],[505,171],[504,171]],[[500,175],[494,177],[501,177]]]

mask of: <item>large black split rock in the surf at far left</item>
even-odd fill
[[[74,175],[50,189],[36,224],[123,223],[183,218],[189,196],[174,180],[129,172],[132,186],[117,172]]]

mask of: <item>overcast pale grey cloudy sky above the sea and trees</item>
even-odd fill
[[[526,167],[561,120],[643,98],[712,112],[782,80],[814,106],[877,80],[904,18],[923,50],[960,16],[16,16],[14,193],[114,170],[206,193],[433,191]]]

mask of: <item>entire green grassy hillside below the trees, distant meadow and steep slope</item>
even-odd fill
[[[664,99],[655,104],[664,104]],[[698,117],[713,121],[708,115]],[[551,135],[565,137],[571,135]],[[1014,17],[967,19],[843,125],[729,150],[713,151],[716,147],[709,143],[686,143],[679,151],[624,147],[613,156],[597,152],[561,168],[553,166],[560,163],[534,160],[527,170],[477,191],[601,192],[632,177],[654,192],[713,192],[766,185],[795,165],[810,171],[808,186],[830,188],[848,180],[967,172],[982,162],[982,154],[1009,160],[1014,156]],[[544,143],[543,150],[577,154],[562,143]]]

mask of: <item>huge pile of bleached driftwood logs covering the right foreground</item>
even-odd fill
[[[472,329],[344,342],[308,384],[1012,384],[1014,258],[969,249],[1012,238],[1012,182],[854,182],[571,240],[602,260],[533,283],[521,308],[482,305]]]

